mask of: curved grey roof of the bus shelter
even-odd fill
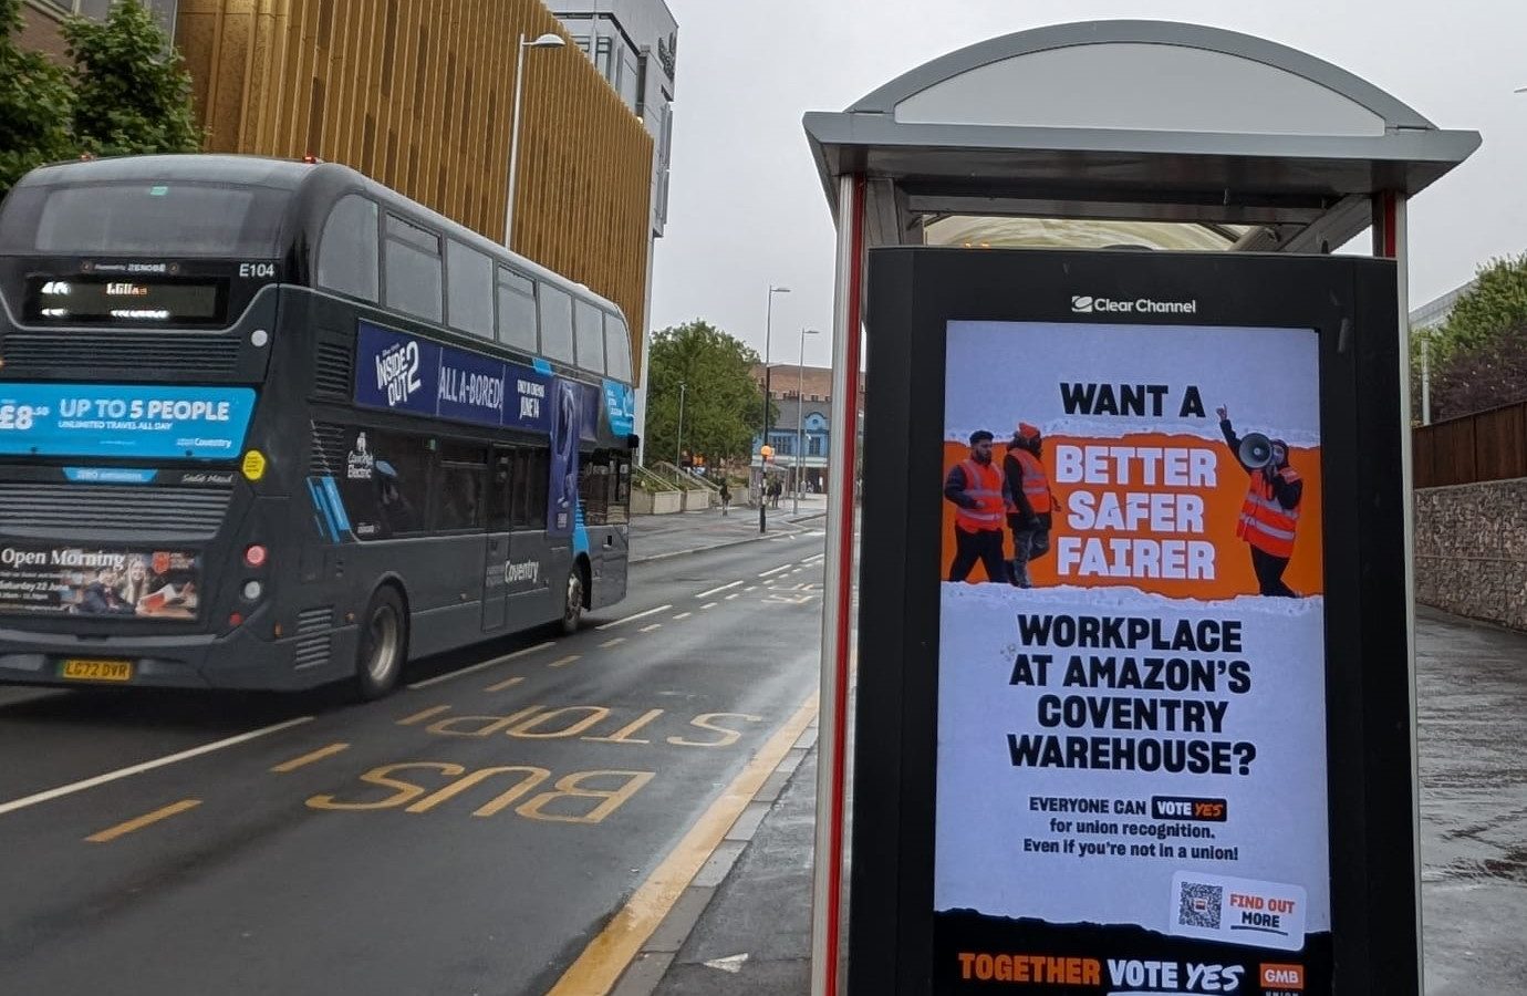
[[[829,200],[837,176],[893,182],[898,231],[883,218],[880,241],[1003,215],[1202,223],[1228,247],[1313,251],[1362,231],[1371,194],[1416,194],[1480,145],[1309,53],[1133,20],[991,38],[805,127]]]

